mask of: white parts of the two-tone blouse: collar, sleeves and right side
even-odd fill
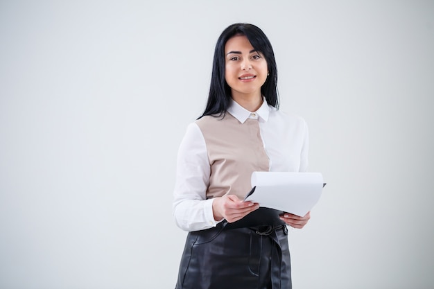
[[[240,123],[256,119],[270,171],[304,172],[308,166],[309,131],[300,116],[285,114],[269,106],[265,99],[256,112],[249,112],[234,100],[227,110]],[[177,155],[173,216],[178,227],[198,231],[215,227],[212,202],[207,200],[211,166],[205,138],[196,123],[191,123]],[[248,192],[246,192],[248,193]]]

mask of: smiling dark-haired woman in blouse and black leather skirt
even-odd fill
[[[189,234],[177,289],[291,288],[286,225],[304,227],[309,213],[284,213],[286,225],[235,225],[259,208],[243,202],[252,172],[307,168],[306,123],[278,107],[268,38],[252,24],[227,27],[216,44],[207,107],[178,152],[173,214]]]

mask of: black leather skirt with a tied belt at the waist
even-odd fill
[[[189,232],[176,289],[292,288],[285,225],[229,227]]]

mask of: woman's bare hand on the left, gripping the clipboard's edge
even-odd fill
[[[216,221],[225,218],[227,222],[235,222],[258,208],[258,203],[243,202],[236,195],[223,195],[223,197],[215,198],[212,203]]]

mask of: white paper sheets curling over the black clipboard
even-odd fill
[[[245,201],[305,216],[320,199],[324,184],[321,173],[254,172],[254,186],[256,189]]]

